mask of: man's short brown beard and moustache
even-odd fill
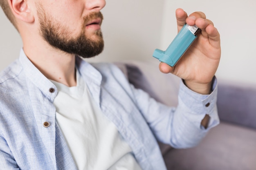
[[[41,36],[51,46],[66,53],[90,58],[99,55],[104,48],[101,30],[94,32],[94,40],[86,36],[86,23],[96,18],[103,20],[101,12],[92,12],[83,18],[81,32],[77,37],[71,37],[71,31],[47,15],[42,5],[37,5]],[[96,37],[96,38],[95,38]]]

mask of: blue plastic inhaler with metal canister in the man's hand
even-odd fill
[[[197,38],[197,35],[195,34],[199,30],[200,29],[195,25],[189,26],[188,24],[185,24],[166,51],[155,49],[153,57],[157,58],[160,62],[164,62],[173,67]]]

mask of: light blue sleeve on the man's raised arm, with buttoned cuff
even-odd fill
[[[219,124],[215,77],[213,91],[209,95],[195,93],[181,81],[176,108],[156,102],[144,91],[135,88],[134,91],[137,106],[157,140],[170,144],[174,148],[196,146],[209,129]],[[207,129],[201,126],[201,121],[206,114],[210,116]]]

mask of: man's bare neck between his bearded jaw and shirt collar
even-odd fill
[[[75,55],[55,49],[45,41],[23,44],[25,54],[45,77],[69,87],[76,86]]]

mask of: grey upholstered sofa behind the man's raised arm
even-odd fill
[[[160,73],[159,62],[115,64],[136,88],[177,105],[180,78]],[[198,146],[174,149],[159,144],[168,170],[256,170],[256,87],[218,79],[217,105],[221,122]]]

